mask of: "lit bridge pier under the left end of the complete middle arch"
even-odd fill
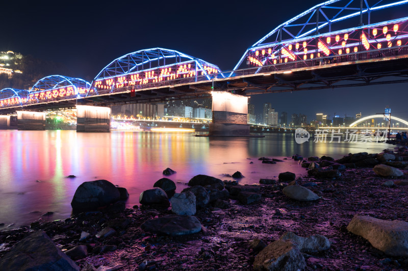
[[[77,132],[110,132],[109,107],[77,105]]]

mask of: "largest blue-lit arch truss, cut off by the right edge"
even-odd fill
[[[321,3],[278,25],[250,46],[234,70],[242,68],[244,62],[249,67],[261,68],[329,55],[406,46],[408,17],[398,16],[404,9],[408,10],[408,0]]]

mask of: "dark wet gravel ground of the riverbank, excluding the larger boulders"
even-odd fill
[[[80,213],[63,221],[37,221],[31,226],[2,230],[0,262],[18,241],[32,231],[41,230],[62,251],[84,245],[86,256],[71,257],[81,258],[75,263],[85,270],[94,267],[101,270],[252,270],[260,248],[253,243],[251,247],[250,242],[260,239],[267,245],[291,231],[304,237],[321,234],[330,241],[329,249],[302,253],[306,270],[406,270],[407,257],[389,256],[346,229],[356,214],[387,221],[408,221],[408,170],[404,164],[408,151],[406,148],[395,151],[394,161],[385,163],[400,167],[403,173],[400,177],[378,176],[373,171],[373,166],[380,162],[377,156],[360,154],[355,156],[355,161],[351,156],[348,160],[338,160],[342,166],[335,166],[338,164],[330,157],[304,159],[302,164],[309,163],[305,171],[309,170],[310,175],[296,177],[295,181],[274,178],[261,181],[269,184],[242,187],[226,182],[230,196],[225,201],[197,208],[195,216],[203,227],[190,235],[169,236],[141,227],[146,221],[171,214],[170,208],[124,209],[124,204],[120,203],[110,209]],[[303,161],[298,156],[293,158]],[[261,163],[262,160],[249,162]],[[318,170],[309,169],[314,167],[312,163],[331,167],[323,171],[334,175],[317,174]],[[271,165],[274,166],[278,165]],[[335,171],[340,172],[340,176]],[[386,181],[392,184],[384,185]],[[283,188],[290,184],[308,187],[320,198],[313,201],[290,199],[283,193]],[[238,196],[232,195],[232,187],[244,192],[250,189],[260,198],[243,204]],[[106,238],[96,237],[106,227],[114,232]],[[82,232],[90,235],[80,241]]]

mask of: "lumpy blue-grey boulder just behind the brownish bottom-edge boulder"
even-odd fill
[[[322,252],[330,248],[330,241],[327,239],[327,237],[320,234],[314,234],[309,237],[301,237],[288,231],[281,236],[281,240],[288,239],[295,241],[298,249],[304,253]]]

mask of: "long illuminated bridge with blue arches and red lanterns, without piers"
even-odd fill
[[[154,102],[212,90],[250,95],[404,82],[408,0],[333,0],[278,25],[232,71],[176,50],[139,50],[113,60],[92,83],[52,75],[30,90],[1,90],[0,113]]]

